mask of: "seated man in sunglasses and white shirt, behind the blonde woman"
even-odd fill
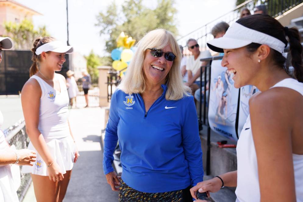
[[[187,58],[186,61],[186,70],[188,75],[187,85],[191,87],[191,90],[194,92],[200,87],[200,67],[206,66],[207,62],[201,62],[201,58],[208,58],[212,55],[209,51],[201,52],[199,50],[199,44],[195,39],[187,40],[188,50],[191,51],[192,55]],[[205,68],[202,69],[202,72],[205,71]],[[208,76],[207,76],[208,78]],[[207,79],[206,78],[206,79]],[[204,74],[202,75],[202,81],[204,81]],[[204,83],[202,83],[202,86]]]

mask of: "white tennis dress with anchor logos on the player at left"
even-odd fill
[[[61,91],[59,92],[40,77],[34,75],[31,78],[39,82],[42,91],[38,129],[43,135],[54,161],[58,163],[61,172],[65,174],[66,171],[73,168],[76,152],[75,143],[70,135],[68,126],[69,97],[66,85],[59,79]],[[28,149],[37,152],[31,142],[28,145]],[[21,172],[48,176],[46,164],[38,152],[34,166],[23,166]]]

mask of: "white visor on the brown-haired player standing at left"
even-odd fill
[[[36,55],[40,55],[42,52],[47,52],[47,51],[70,54],[73,52],[73,47],[67,46],[61,41],[52,41],[39,46],[36,49]]]

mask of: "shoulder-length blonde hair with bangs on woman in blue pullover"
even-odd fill
[[[182,81],[180,62],[182,59],[180,47],[173,37],[173,34],[164,29],[156,29],[149,31],[138,42],[137,51],[134,54],[127,73],[123,77],[122,82],[118,86],[127,94],[143,93],[145,90],[145,80],[143,76],[143,64],[145,51],[148,48],[163,49],[169,44],[173,54],[176,55],[173,65],[166,76],[167,90],[166,100],[179,100],[184,96],[189,96],[191,89]]]

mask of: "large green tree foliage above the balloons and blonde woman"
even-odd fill
[[[155,9],[147,8],[142,2],[143,0],[127,0],[121,9],[113,2],[105,13],[99,13],[96,26],[100,27],[100,35],[109,34],[109,39],[105,42],[107,52],[116,48],[116,38],[123,31],[136,41],[156,28],[177,34],[174,0],[158,0]]]

